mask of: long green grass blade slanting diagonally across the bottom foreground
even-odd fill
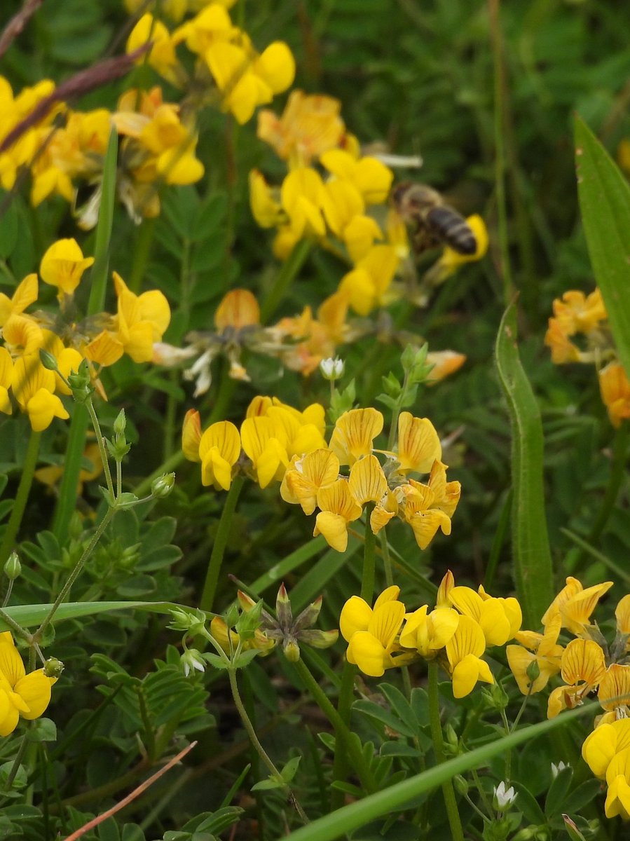
[[[426,791],[437,788],[443,782],[453,779],[455,775],[465,774],[466,771],[479,768],[486,764],[489,759],[500,754],[506,754],[519,744],[531,742],[533,738],[543,736],[555,727],[563,727],[572,722],[576,716],[583,715],[586,711],[593,712],[598,709],[599,706],[593,703],[568,713],[564,712],[561,716],[552,718],[551,721],[532,724],[531,727],[523,727],[516,733],[497,738],[490,744],[471,750],[469,754],[462,754],[455,759],[449,759],[441,765],[410,777],[409,780],[391,785],[385,791],[378,791],[376,794],[364,797],[363,800],[337,809],[330,815],[320,817],[307,826],[297,829],[294,833],[290,833],[284,841],[333,841],[334,838],[341,838],[342,835],[352,833],[353,830],[365,826],[374,818],[387,815],[404,807],[405,803]]]

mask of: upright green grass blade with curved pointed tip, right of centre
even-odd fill
[[[516,345],[511,304],[496,338],[496,368],[510,413],[512,434],[512,563],[524,626],[537,628],[553,600],[553,568],[543,492],[543,425]]]

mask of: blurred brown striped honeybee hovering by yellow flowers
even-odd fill
[[[447,245],[458,254],[472,256],[477,239],[468,222],[426,184],[402,182],[393,192],[394,207],[412,230],[414,251]]]

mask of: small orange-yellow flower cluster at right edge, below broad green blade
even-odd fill
[[[583,350],[572,341],[579,336],[584,337]],[[553,318],[549,319],[545,344],[551,348],[551,358],[557,365],[595,362],[601,400],[612,426],[620,426],[630,418],[630,380],[617,361],[599,289],[590,295],[571,289],[564,293],[562,300],[553,301]]]

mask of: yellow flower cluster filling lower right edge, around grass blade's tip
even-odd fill
[[[578,579],[566,585],[543,616],[543,633],[521,631],[520,645],[507,646],[508,663],[524,695],[538,692],[555,674],[563,685],[552,690],[548,717],[582,703],[597,692],[604,714],[582,746],[582,756],[601,780],[606,780],[606,816],[630,818],[630,595],[619,601],[617,635],[609,646],[591,621],[611,581],[584,588]],[[566,646],[558,642],[562,628],[574,635]]]

